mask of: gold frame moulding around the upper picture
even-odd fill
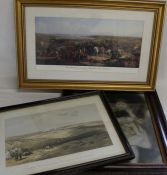
[[[98,8],[114,10],[133,10],[154,12],[152,42],[149,55],[149,65],[146,82],[127,81],[74,81],[74,80],[39,80],[28,79],[26,69],[25,46],[25,8],[27,6],[55,6],[75,8]],[[163,21],[165,15],[165,1],[144,0],[16,0],[16,33],[18,75],[20,88],[32,89],[103,89],[103,90],[131,90],[153,91],[156,83],[156,75],[159,61],[159,50],[162,36]]]

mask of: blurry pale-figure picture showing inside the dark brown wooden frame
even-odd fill
[[[110,106],[135,153],[131,162],[163,163],[144,94],[124,92],[108,96]]]

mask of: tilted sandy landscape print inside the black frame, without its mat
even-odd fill
[[[7,167],[111,145],[95,104],[5,120]]]

